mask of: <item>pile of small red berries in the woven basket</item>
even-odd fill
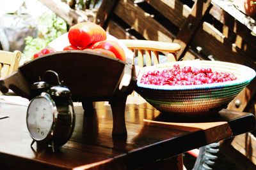
[[[202,85],[236,79],[232,73],[212,71],[211,68],[204,67],[180,67],[179,64],[175,64],[173,68],[163,71],[148,71],[147,74],[143,74],[140,83],[148,85]]]

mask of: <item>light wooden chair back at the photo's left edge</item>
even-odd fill
[[[21,52],[6,52],[0,50],[0,78],[8,76],[19,67]]]

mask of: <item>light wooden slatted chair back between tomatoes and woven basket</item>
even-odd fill
[[[164,62],[177,60],[180,45],[177,43],[166,43],[141,39],[118,39],[134,53],[134,63],[139,67],[159,64],[159,57],[164,57]],[[160,56],[160,54],[163,56]]]

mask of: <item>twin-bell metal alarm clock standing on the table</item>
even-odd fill
[[[35,142],[51,145],[54,152],[54,146],[67,143],[75,125],[74,106],[68,87],[60,83],[31,99],[26,124],[33,139],[31,146]]]

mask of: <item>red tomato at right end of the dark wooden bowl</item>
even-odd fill
[[[110,40],[99,41],[94,45],[92,45],[91,48],[92,49],[102,48],[104,50],[109,50],[115,54],[117,59],[125,61],[125,52],[123,48],[116,41],[110,41]]]

